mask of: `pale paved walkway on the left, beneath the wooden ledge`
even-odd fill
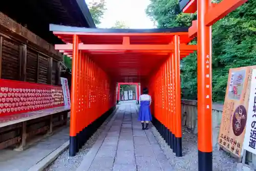
[[[12,148],[0,151],[1,171],[26,171],[69,140],[69,126],[62,127],[53,135],[33,143],[22,152],[13,151]]]

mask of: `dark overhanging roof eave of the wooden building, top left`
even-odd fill
[[[49,31],[49,24],[95,28],[84,0],[5,1],[0,11],[51,44],[61,40]]]

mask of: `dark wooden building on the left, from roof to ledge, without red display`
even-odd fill
[[[61,75],[71,83],[63,55],[54,48],[54,44],[63,42],[49,31],[49,24],[95,27],[84,0],[1,3],[0,78],[60,86]],[[70,108],[61,106],[44,115],[34,111],[33,115],[22,113],[13,117],[5,117],[0,112],[0,149],[15,145],[18,150],[25,149],[26,141],[38,134],[51,134],[56,127],[65,125],[69,111]]]

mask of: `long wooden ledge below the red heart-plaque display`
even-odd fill
[[[0,149],[16,145],[16,151],[23,151],[26,141],[33,136],[51,134],[54,127],[66,125],[69,112],[69,107],[60,106],[0,117]]]

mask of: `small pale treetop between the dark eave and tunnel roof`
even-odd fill
[[[93,17],[94,23],[96,25],[100,24],[100,19],[102,18],[106,8],[105,8],[105,1],[100,0],[100,2],[90,2],[89,3],[89,10]]]

